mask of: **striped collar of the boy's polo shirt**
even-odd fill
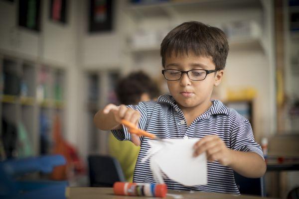
[[[175,100],[170,95],[160,96],[157,101],[168,103],[174,108],[178,107]],[[220,100],[212,100],[212,103],[213,104],[209,107],[209,109],[202,113],[199,117],[210,118],[211,115],[228,114],[228,108]]]

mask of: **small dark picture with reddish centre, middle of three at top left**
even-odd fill
[[[67,22],[67,0],[50,0],[49,18],[60,23]]]

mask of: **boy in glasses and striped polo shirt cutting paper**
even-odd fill
[[[141,145],[134,182],[154,183],[149,162],[141,162],[149,138],[131,135],[120,125],[122,118],[159,138],[200,138],[193,155],[207,155],[207,185],[185,187],[167,178],[168,189],[239,194],[233,171],[249,178],[264,175],[263,153],[249,121],[221,101],[210,100],[213,87],[221,82],[227,54],[222,30],[196,21],[182,23],[166,35],[160,49],[171,95],[138,105],[109,104],[97,112],[97,127],[113,129],[118,139]]]

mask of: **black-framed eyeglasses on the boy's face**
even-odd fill
[[[181,79],[183,73],[186,73],[188,78],[192,81],[201,81],[204,80],[208,74],[214,73],[216,71],[218,70],[193,69],[189,71],[180,71],[175,69],[166,69],[162,70],[162,74],[164,75],[164,78],[169,81]]]

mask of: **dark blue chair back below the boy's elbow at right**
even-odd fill
[[[234,172],[234,176],[241,194],[266,197],[264,177],[246,178],[236,172]]]

